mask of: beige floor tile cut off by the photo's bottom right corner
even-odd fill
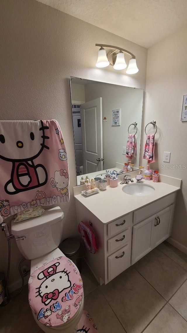
[[[166,304],[143,333],[186,333],[187,322]]]

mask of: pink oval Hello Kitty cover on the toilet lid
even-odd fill
[[[83,299],[83,281],[74,263],[65,256],[37,268],[30,276],[29,304],[44,325],[66,323],[78,311]]]

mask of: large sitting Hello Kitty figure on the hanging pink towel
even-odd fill
[[[24,121],[23,121],[24,122]],[[27,121],[25,131],[15,129],[17,123],[5,122],[0,130],[0,159],[12,163],[10,179],[4,189],[7,194],[17,194],[47,183],[48,174],[42,164],[35,165],[34,160],[49,147],[45,144],[48,126],[43,121],[36,121],[32,132],[28,132]],[[7,134],[8,133],[8,134]]]

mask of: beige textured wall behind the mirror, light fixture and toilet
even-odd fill
[[[73,186],[76,169],[69,76],[145,89],[147,49],[34,0],[0,1],[0,119],[56,119],[70,171],[70,203],[61,205],[63,238],[77,230]],[[137,57],[139,72],[128,76],[111,66],[97,69],[95,43],[121,46]],[[21,255],[12,240],[10,283]],[[7,241],[0,233],[0,269],[7,267]]]

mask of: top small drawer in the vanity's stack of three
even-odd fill
[[[118,218],[117,220],[108,223],[108,237],[114,236],[117,233],[129,227],[131,214],[127,214]]]

